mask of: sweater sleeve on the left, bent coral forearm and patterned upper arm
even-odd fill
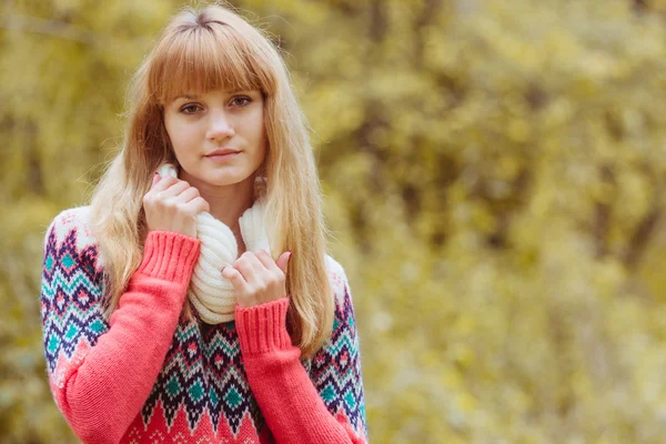
[[[85,233],[83,233],[85,231]],[[178,325],[200,241],[151,231],[109,322],[97,246],[57,216],[41,283],[44,355],[53,398],[84,443],[118,443],[158,377]]]

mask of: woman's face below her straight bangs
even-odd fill
[[[164,125],[185,175],[214,186],[253,181],[266,150],[263,109],[259,90],[214,90],[168,103]],[[219,149],[239,153],[226,159],[209,155]]]

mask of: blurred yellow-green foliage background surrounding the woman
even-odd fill
[[[74,443],[42,241],[175,0],[0,6],[0,441]],[[293,71],[373,443],[663,443],[666,0],[243,0]]]

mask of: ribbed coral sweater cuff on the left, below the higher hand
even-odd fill
[[[137,272],[188,285],[201,241],[173,231],[149,231]]]

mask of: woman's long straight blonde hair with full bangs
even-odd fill
[[[262,172],[271,215],[266,230],[272,233],[274,260],[286,250],[294,252],[286,281],[287,327],[303,359],[310,357],[331,336],[334,295],[325,265],[329,232],[322,190],[306,121],[276,47],[220,3],[185,7],[176,13],[130,83],[122,147],[91,199],[92,230],[104,261],[104,315],[115,310],[141,263],[148,234],[142,198],[153,171],[163,161],[176,161],[163,107],[179,93],[218,88],[259,89],[264,95],[269,144]],[[192,320],[188,304],[185,313]]]

